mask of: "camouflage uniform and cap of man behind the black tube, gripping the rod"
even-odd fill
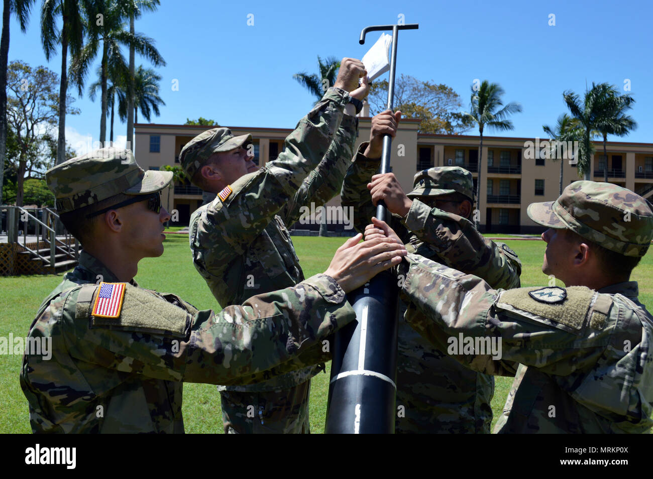
[[[379,166],[378,160],[362,154],[366,147],[358,148],[342,187],[342,204],[354,207],[360,231],[375,214],[366,185]],[[430,168],[415,175],[414,185],[407,194],[413,198],[408,214],[393,215],[390,223],[410,253],[473,272],[495,288],[520,286],[521,264],[507,245],[486,240],[467,219],[417,199],[454,192],[473,198],[470,172],[457,166]],[[405,312],[400,301],[396,404],[404,406],[404,416],[396,418],[395,432],[489,433],[494,377],[449,358],[411,328],[403,319]]]

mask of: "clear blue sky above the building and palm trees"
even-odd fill
[[[35,3],[25,35],[12,22],[9,59],[60,73],[61,57],[48,63],[40,46],[40,1]],[[512,117],[514,131],[497,136],[543,136],[541,126],[554,125],[567,111],[566,89],[582,94],[586,84],[609,82],[624,91],[629,80],[631,89],[624,93],[636,100],[631,116],[639,127],[609,140],[653,142],[650,1],[161,3],[157,12],[136,21],[136,31],[155,39],[167,61],[158,69],[166,106],[153,123],[203,116],[226,126],[292,128],[313,103],[293,74],[317,70],[317,55],[361,58],[379,33],[360,45],[360,29],[396,23],[401,14],[420,27],[400,32],[397,74],[449,85],[464,109],[475,78],[502,85],[504,101],[520,102],[523,112]],[[253,25],[247,25],[249,14]],[[139,63],[150,66],[136,57]],[[174,80],[178,91],[172,89]],[[85,96],[74,106],[82,113],[67,117],[67,140],[73,146],[97,140],[99,100]],[[116,121],[115,129],[124,140],[125,125]]]

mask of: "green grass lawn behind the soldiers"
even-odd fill
[[[306,277],[323,272],[334,251],[345,238],[293,238]],[[522,262],[522,286],[546,285],[548,277],[541,272],[545,249],[543,241],[506,240]],[[40,302],[61,281],[62,275],[31,277],[0,277],[0,288],[5,298],[0,311],[0,336],[24,336],[29,330]],[[639,299],[653,304],[653,249],[635,268],[633,281],[639,282]],[[136,281],[139,285],[159,291],[175,292],[200,309],[219,308],[204,281],[191,263],[188,236],[168,234],[165,253],[161,258],[146,258],[140,262]],[[562,283],[559,283],[562,286]],[[0,433],[29,433],[27,401],[20,389],[18,375],[21,356],[0,356]],[[327,374],[317,375],[312,382],[310,421],[313,433],[323,433],[327,409],[329,365]],[[500,414],[510,390],[511,378],[496,378],[492,400],[494,418]],[[187,433],[222,432],[220,398],[210,384],[185,384],[183,418]],[[494,426],[494,424],[492,424]]]

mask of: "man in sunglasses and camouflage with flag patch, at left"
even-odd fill
[[[29,330],[50,341],[47,356],[25,350],[20,374],[34,432],[181,433],[182,381],[247,384],[324,360],[321,340],[355,318],[345,290],[388,267],[387,255],[400,260],[396,242],[351,238],[325,274],[217,315],[198,311],[133,281],[141,258],[163,253],[160,191],[171,173],[101,149],[46,179],[84,251]]]

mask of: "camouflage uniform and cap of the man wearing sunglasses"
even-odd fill
[[[165,172],[143,172],[131,152],[124,163],[103,157],[85,155],[48,171],[60,213],[170,182]],[[125,294],[118,317],[100,317],[92,314],[98,275],[118,283],[82,252],[30,327],[29,337],[52,341],[50,358],[23,358],[20,384],[33,432],[182,433],[182,381],[247,384],[315,364],[324,360],[321,340],[355,318],[326,275],[217,315],[174,294],[119,283]]]

